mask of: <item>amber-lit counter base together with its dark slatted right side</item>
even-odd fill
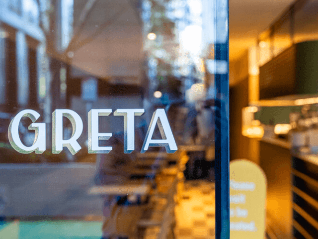
[[[260,166],[267,177],[267,232],[271,239],[318,235],[318,154],[294,152],[266,125],[260,140]]]

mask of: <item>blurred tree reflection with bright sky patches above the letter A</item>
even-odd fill
[[[189,7],[185,0],[145,0],[143,2],[144,50],[153,68],[148,71],[153,83],[150,95],[160,90],[168,95],[180,96],[182,76],[190,74],[186,53],[180,52],[178,31],[189,24]],[[182,23],[182,24],[181,24]],[[147,34],[155,33],[157,38],[149,40]],[[186,68],[186,70],[185,70]],[[154,74],[156,73],[156,74]],[[184,74],[185,73],[185,74]]]

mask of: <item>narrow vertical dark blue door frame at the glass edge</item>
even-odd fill
[[[215,238],[230,239],[229,1],[216,0],[215,9],[215,60],[227,63],[226,74],[215,74]]]

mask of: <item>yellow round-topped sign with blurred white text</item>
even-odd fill
[[[230,163],[230,238],[264,239],[266,177],[255,163]]]

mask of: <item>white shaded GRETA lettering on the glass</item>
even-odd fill
[[[122,116],[124,121],[124,153],[131,153],[135,150],[135,116],[141,116],[144,109],[118,109],[114,116]],[[112,146],[99,146],[99,140],[107,140],[112,133],[100,133],[98,131],[98,117],[109,116],[111,109],[92,109],[88,112],[88,153],[109,153]],[[30,130],[35,130],[34,142],[31,146],[25,146],[19,137],[19,123],[22,117],[28,117],[32,120],[29,126]],[[23,110],[19,112],[10,122],[8,128],[8,138],[11,146],[20,153],[43,153],[46,150],[46,131],[45,123],[35,122],[40,114],[33,110]],[[63,117],[71,121],[73,133],[69,139],[63,139]],[[152,139],[156,124],[158,124],[162,139]],[[52,152],[60,153],[63,147],[67,147],[74,155],[81,149],[78,138],[83,130],[83,122],[80,116],[72,110],[58,109],[52,114]],[[164,109],[157,109],[151,119],[146,133],[141,153],[148,150],[150,146],[165,147],[167,153],[174,153],[178,148],[175,143],[167,116]]]

